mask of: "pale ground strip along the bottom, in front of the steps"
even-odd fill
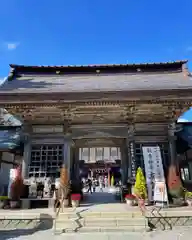
[[[118,239],[131,239],[131,240],[143,240],[154,239],[154,240],[191,240],[192,228],[175,229],[172,231],[156,231],[150,233],[75,233],[75,234],[63,234],[60,236],[54,236],[52,230],[38,231],[34,234],[25,233],[24,231],[7,231],[0,232],[1,240],[116,240]]]

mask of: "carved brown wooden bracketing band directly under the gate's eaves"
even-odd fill
[[[31,123],[52,122],[61,123],[64,120],[71,123],[133,123],[177,120],[192,105],[191,101],[135,101],[107,102],[93,101],[75,104],[8,104],[6,109],[20,119]],[[50,110],[52,109],[52,110]]]

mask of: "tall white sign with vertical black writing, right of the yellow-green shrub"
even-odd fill
[[[168,202],[161,151],[156,147],[143,147],[143,158],[149,201]]]

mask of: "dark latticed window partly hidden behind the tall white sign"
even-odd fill
[[[168,166],[169,166],[169,150],[168,150],[168,143],[159,143],[159,144],[154,144],[154,143],[147,143],[147,144],[142,144],[142,143],[136,143],[135,144],[135,160],[136,160],[136,169],[138,167],[141,167],[144,171],[145,166],[144,166],[144,159],[143,159],[143,150],[142,147],[147,147],[147,146],[159,146],[161,149],[161,157],[162,157],[162,162],[164,166],[164,170],[166,171]],[[144,171],[145,172],[145,171]]]

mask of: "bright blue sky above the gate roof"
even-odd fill
[[[191,0],[2,0],[0,6],[1,77],[9,63],[188,59],[192,70]]]

